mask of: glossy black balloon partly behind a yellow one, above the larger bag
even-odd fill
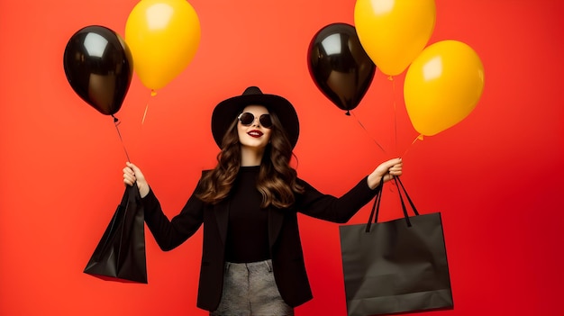
[[[366,94],[376,72],[356,29],[346,23],[323,27],[315,34],[307,55],[315,85],[349,115]]]

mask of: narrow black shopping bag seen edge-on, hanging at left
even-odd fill
[[[127,185],[84,273],[105,280],[147,283],[144,212],[137,185]]]

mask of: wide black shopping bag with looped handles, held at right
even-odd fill
[[[378,222],[380,190],[367,224],[340,226],[349,316],[453,307],[441,213],[420,215],[395,180],[404,218]],[[415,216],[407,214],[402,191]]]

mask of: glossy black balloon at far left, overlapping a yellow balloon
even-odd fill
[[[132,82],[132,53],[114,31],[86,26],[70,40],[63,58],[70,86],[105,115],[117,113]]]

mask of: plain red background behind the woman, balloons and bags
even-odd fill
[[[123,194],[126,158],[112,119],[68,85],[63,51],[86,25],[123,34],[136,3],[0,3],[2,315],[206,314],[196,309],[200,233],[165,253],[147,231],[149,284],[82,273]],[[296,105],[298,173],[323,192],[342,194],[380,161],[404,157],[419,209],[442,212],[450,260],[455,309],[426,314],[564,313],[562,2],[437,0],[429,43],[466,42],[484,63],[486,86],[466,120],[413,145],[403,76],[389,81],[378,71],[349,117],[308,73],[314,33],[352,24],[353,0],[190,3],[202,26],[196,58],[155,97],[133,77],[116,114],[168,215],[214,165],[214,104],[257,85]],[[392,192],[385,219],[400,215]],[[350,222],[367,216],[368,207]],[[338,225],[301,217],[300,228],[314,300],[296,315],[345,315]]]

